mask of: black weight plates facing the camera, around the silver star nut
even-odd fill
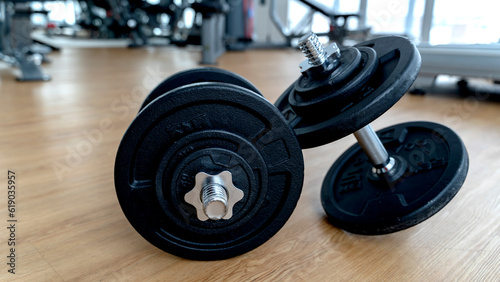
[[[200,221],[184,195],[198,172],[229,171],[245,197],[227,220]],[[293,130],[263,97],[239,86],[179,87],[141,111],[115,163],[123,212],[149,242],[196,260],[233,257],[263,244],[292,214],[302,188]]]

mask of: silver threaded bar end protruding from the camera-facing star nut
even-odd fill
[[[227,213],[227,191],[217,183],[209,183],[202,189],[203,212],[212,220],[219,220]]]

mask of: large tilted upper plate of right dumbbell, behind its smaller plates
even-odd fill
[[[333,142],[366,126],[391,108],[418,75],[420,54],[415,45],[404,37],[376,38],[356,47],[373,48],[379,59],[378,68],[363,88],[344,101],[343,108],[301,115],[288,101],[294,85],[276,101],[276,107],[295,130],[302,148]]]

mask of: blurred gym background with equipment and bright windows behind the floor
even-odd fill
[[[200,64],[216,65],[225,52],[296,48],[309,31],[345,46],[397,34],[422,55],[413,93],[447,81],[466,94],[477,79],[494,92],[499,10],[488,0],[0,1],[0,59],[20,81],[50,80],[42,65],[61,48],[197,48]]]

